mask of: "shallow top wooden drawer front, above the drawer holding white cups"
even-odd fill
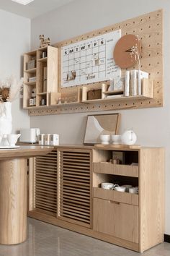
[[[115,174],[122,176],[138,177],[138,166],[112,164],[107,162],[94,163],[94,172],[100,174]]]

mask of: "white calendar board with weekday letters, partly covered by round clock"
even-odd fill
[[[121,30],[61,47],[61,88],[121,77],[113,50]]]

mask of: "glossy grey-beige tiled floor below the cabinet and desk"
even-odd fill
[[[28,239],[15,246],[0,245],[0,256],[138,256],[113,244],[28,218]],[[163,243],[143,256],[170,256],[170,244]]]

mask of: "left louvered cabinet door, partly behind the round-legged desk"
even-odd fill
[[[57,214],[57,150],[35,158],[35,210]]]

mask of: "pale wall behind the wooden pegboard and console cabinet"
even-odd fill
[[[133,127],[141,145],[166,148],[166,234],[170,234],[170,1],[169,0],[76,0],[32,20],[32,48],[39,45],[39,35],[50,37],[52,43],[88,33],[107,25],[122,22],[140,14],[164,9],[164,108],[119,111],[121,132]],[[31,127],[41,132],[57,132],[61,143],[82,143],[86,113],[31,117]]]

